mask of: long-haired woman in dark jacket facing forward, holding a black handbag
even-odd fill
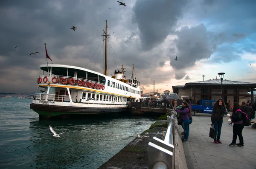
[[[211,121],[214,125],[215,137],[213,142],[215,144],[221,144],[221,127],[223,123],[224,114],[227,115],[226,105],[223,99],[218,99],[218,101],[213,105],[211,117]]]

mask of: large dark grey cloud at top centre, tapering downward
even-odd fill
[[[150,50],[159,45],[176,29],[188,0],[137,0],[134,22],[140,29],[142,48]]]

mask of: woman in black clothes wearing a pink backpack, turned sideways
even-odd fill
[[[233,122],[233,140],[232,143],[229,146],[244,146],[244,138],[242,136],[242,131],[244,129],[244,123],[242,119],[242,112],[239,109],[239,103],[234,103],[233,105],[233,115],[231,115],[229,118],[231,118]],[[237,136],[239,137],[239,144],[236,144]]]

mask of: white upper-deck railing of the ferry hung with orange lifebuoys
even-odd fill
[[[47,81],[44,82],[44,78],[47,77]],[[56,77],[56,79],[54,79]],[[41,84],[47,84],[48,82],[50,84],[57,84],[57,85],[71,85],[69,83],[70,79],[74,79],[74,84],[72,86],[82,86],[82,85],[79,85],[78,84],[78,81],[81,80],[82,82],[86,81],[87,83],[91,82],[92,84],[93,83],[97,83],[99,85],[105,85],[105,83],[101,83],[101,82],[95,82],[95,81],[92,81],[92,80],[88,80],[88,79],[82,79],[82,78],[75,78],[75,77],[72,77],[72,76],[55,76],[55,75],[40,75],[39,78],[42,78],[42,82]],[[61,82],[61,79],[64,78],[64,79],[67,79],[67,83],[66,84],[63,84]],[[46,79],[45,79],[46,80]],[[53,82],[52,82],[53,80]],[[87,84],[88,85],[88,84]]]

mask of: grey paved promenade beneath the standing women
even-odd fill
[[[221,130],[222,144],[214,144],[209,137],[210,119],[208,114],[193,116],[189,140],[183,142],[188,169],[256,169],[256,129],[244,127],[244,147],[229,146],[233,126],[227,124],[225,115]],[[181,126],[180,131],[183,131]],[[239,138],[236,143],[239,143]]]

